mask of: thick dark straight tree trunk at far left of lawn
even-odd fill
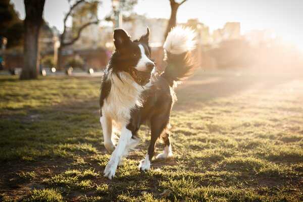
[[[35,79],[39,70],[39,31],[45,0],[24,0],[24,67],[20,79]]]

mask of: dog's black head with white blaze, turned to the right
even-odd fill
[[[115,71],[125,71],[139,84],[149,82],[155,63],[150,59],[148,46],[149,29],[140,39],[132,41],[130,35],[123,29],[115,29],[114,43],[116,51]]]

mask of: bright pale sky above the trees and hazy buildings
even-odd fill
[[[23,0],[12,2],[23,19]],[[62,31],[64,14],[68,9],[67,0],[46,0],[44,19]],[[99,18],[103,19],[111,9],[111,0],[103,0],[98,9]],[[151,18],[169,18],[169,1],[138,0],[134,12]],[[199,19],[211,31],[222,28],[226,22],[240,22],[242,33],[256,29],[271,30],[303,49],[303,0],[187,0],[179,7],[177,22],[186,22],[190,18]]]

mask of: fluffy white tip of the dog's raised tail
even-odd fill
[[[167,35],[164,49],[171,54],[182,54],[195,48],[195,33],[188,27],[176,26]]]

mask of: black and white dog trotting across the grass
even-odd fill
[[[150,59],[149,29],[138,40],[132,41],[123,29],[114,31],[116,50],[102,78],[100,93],[100,123],[104,145],[112,153],[104,176],[112,179],[130,148],[137,142],[140,125],[150,126],[151,140],[145,159],[139,169],[149,170],[155,144],[161,136],[165,149],[157,158],[171,157],[169,119],[176,100],[174,84],[192,72],[191,51],[195,47],[194,32],[189,28],[175,27],[164,43],[167,67],[158,74]],[[115,146],[114,129],[121,132]]]

